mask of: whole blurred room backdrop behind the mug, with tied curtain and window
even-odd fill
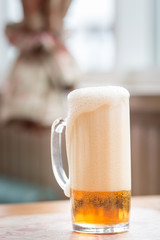
[[[132,195],[160,194],[159,12],[158,0],[0,1],[0,203],[65,199],[50,126],[68,92],[99,85],[131,93]]]

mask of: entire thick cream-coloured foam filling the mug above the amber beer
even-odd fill
[[[66,144],[71,188],[131,189],[128,98],[125,88],[114,86],[82,88],[68,95]]]

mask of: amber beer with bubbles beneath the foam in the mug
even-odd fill
[[[131,191],[88,192],[71,189],[73,223],[120,224],[129,221]]]

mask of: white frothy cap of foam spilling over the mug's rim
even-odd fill
[[[102,105],[117,106],[130,96],[119,86],[88,87],[76,89],[68,95],[68,118],[74,120],[83,112],[92,112]]]

